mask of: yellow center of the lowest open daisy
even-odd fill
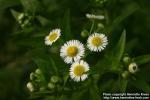
[[[76,76],[81,76],[85,73],[85,68],[82,65],[77,65],[74,70],[73,70],[74,74]]]

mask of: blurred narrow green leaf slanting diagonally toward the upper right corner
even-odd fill
[[[139,8],[138,4],[135,2],[132,2],[131,4],[128,4],[127,7],[125,7],[122,10],[122,14],[120,16],[118,16],[116,19],[114,19],[114,21],[112,22],[112,24],[104,29],[104,33],[111,33],[114,29],[116,29],[116,27],[128,16],[130,16],[131,14],[133,14],[137,9]]]

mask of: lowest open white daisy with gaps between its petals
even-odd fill
[[[70,67],[70,77],[76,81],[84,81],[88,78],[89,65],[87,62],[81,60],[74,62]]]

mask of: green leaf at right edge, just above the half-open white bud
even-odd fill
[[[150,54],[138,56],[138,57],[136,57],[136,58],[133,58],[133,60],[134,60],[138,65],[142,65],[142,64],[148,63],[148,62],[150,62]]]

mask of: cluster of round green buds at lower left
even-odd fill
[[[36,69],[35,72],[30,73],[30,81],[27,83],[27,88],[30,92],[38,92],[44,90],[53,90],[59,87],[61,79],[58,76],[50,77],[47,82],[40,69]]]

